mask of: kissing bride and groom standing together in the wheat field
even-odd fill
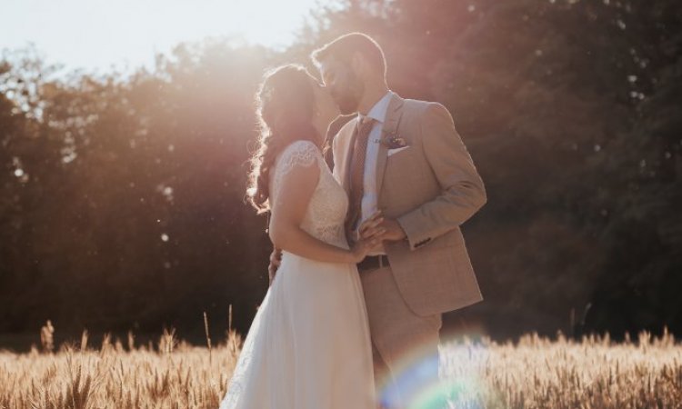
[[[323,84],[284,65],[257,95],[247,197],[270,214],[271,284],[220,409],[411,407],[439,382],[442,314],[482,300],[460,224],[485,187],[446,108],[388,89],[374,39],[311,57]],[[356,116],[330,170],[338,115]]]

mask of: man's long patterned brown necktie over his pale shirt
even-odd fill
[[[346,216],[346,239],[353,242],[353,228],[362,212],[362,196],[365,187],[365,157],[367,141],[372,131],[374,119],[363,116],[357,121],[354,131],[353,154],[350,159],[350,200],[348,201],[348,214]]]

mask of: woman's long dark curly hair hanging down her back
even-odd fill
[[[277,155],[296,140],[320,144],[313,126],[316,81],[302,65],[282,65],[268,71],[256,94],[260,129],[258,148],[251,157],[246,200],[261,214],[270,210],[270,172]]]

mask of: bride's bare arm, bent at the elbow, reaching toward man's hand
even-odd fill
[[[279,194],[272,205],[270,240],[276,248],[317,261],[329,263],[359,263],[376,243],[364,241],[346,250],[317,240],[301,229],[310,198],[315,192],[320,168],[296,165],[282,178]]]

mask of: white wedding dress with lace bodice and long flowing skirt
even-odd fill
[[[282,181],[296,167],[319,169],[301,228],[348,248],[348,199],[316,145],[296,141],[278,155],[270,203],[286,200]],[[220,409],[374,409],[365,298],[355,264],[284,252],[246,336]]]

